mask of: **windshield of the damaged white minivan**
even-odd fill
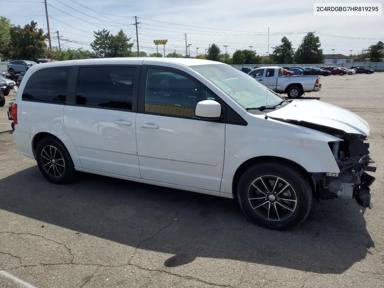
[[[248,74],[230,65],[210,64],[190,66],[190,68],[214,83],[244,109],[263,105],[275,106],[281,103],[281,101],[285,101],[283,97],[271,89],[268,89]]]

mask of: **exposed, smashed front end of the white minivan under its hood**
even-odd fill
[[[280,120],[280,119],[279,119]],[[376,172],[376,167],[369,166],[374,161],[369,156],[369,143],[366,136],[360,134],[347,134],[331,127],[293,120],[285,120],[292,124],[321,131],[343,141],[329,142],[339,173],[319,173],[312,175],[316,195],[319,199],[354,198],[364,208],[372,208],[370,185],[375,177],[366,172]]]

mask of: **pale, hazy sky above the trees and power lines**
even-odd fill
[[[153,40],[167,39],[166,54],[185,55],[185,33],[192,56],[204,54],[216,43],[230,55],[237,49],[272,53],[274,46],[288,37],[297,48],[305,33],[315,32],[324,54],[361,53],[369,45],[384,41],[382,16],[314,16],[313,3],[335,1],[294,0],[47,0],[52,46],[91,49],[94,31],[103,28],[116,34],[120,29],[132,37],[136,51],[137,16],[139,50],[156,52]],[[364,1],[338,0],[338,3]],[[382,3],[384,0],[369,0]],[[0,0],[1,15],[14,25],[32,20],[47,31],[44,0]],[[7,13],[5,13],[7,12]],[[268,28],[270,31],[268,40]],[[269,45],[268,45],[269,44]],[[227,47],[224,47],[227,45]],[[163,53],[163,45],[159,45]]]

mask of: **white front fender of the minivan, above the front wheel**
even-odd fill
[[[262,125],[258,127],[226,125],[220,192],[232,193],[233,175],[238,167],[245,161],[260,156],[288,159],[310,173],[340,172],[328,142],[342,141],[341,139],[271,118],[268,120],[257,118],[257,122],[261,122]]]

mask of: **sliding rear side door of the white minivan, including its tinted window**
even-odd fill
[[[137,66],[80,66],[76,103],[64,126],[83,168],[140,178],[136,146]]]

